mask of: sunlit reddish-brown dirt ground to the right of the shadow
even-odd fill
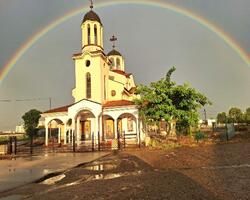
[[[250,199],[250,142],[130,153],[154,168],[181,173],[215,199]]]

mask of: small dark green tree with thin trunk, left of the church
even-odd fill
[[[26,131],[26,134],[30,137],[30,153],[32,154],[32,146],[33,146],[33,136],[36,132],[36,128],[39,123],[39,119],[41,117],[41,112],[32,109],[28,112],[26,112],[23,116],[22,119],[24,121],[24,129]]]

